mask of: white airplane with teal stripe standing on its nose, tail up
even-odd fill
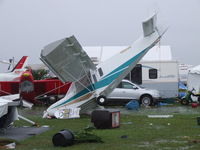
[[[77,118],[106,96],[135,67],[166,32],[154,14],[142,23],[143,36],[131,46],[95,66],[74,36],[55,41],[41,51],[43,63],[63,82],[72,82],[65,97],[51,105],[43,117]]]

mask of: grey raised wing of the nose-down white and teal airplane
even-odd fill
[[[78,81],[96,69],[74,36],[44,47],[41,60],[63,82]]]

